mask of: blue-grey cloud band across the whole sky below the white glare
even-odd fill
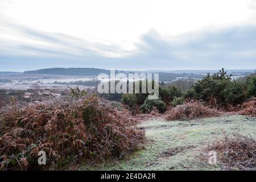
[[[89,43],[72,36],[46,33],[11,25],[29,39],[56,47],[4,42],[0,71],[50,67],[97,67],[115,69],[255,69],[256,26],[189,32],[167,38],[152,29],[141,35],[135,51],[124,51],[113,43]],[[63,49],[64,47],[64,49]],[[90,48],[93,47],[93,48]],[[22,52],[31,52],[23,54]],[[108,57],[102,52],[127,53]]]

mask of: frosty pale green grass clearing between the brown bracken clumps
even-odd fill
[[[223,131],[253,134],[255,124],[256,118],[242,115],[191,121],[152,119],[141,123],[147,137],[145,150],[126,160],[94,167],[82,166],[81,169],[219,170],[221,165],[210,166],[208,159],[203,157],[207,144],[221,137]]]

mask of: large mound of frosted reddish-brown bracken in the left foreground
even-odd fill
[[[11,105],[0,113],[0,169],[59,169],[122,159],[144,142],[136,123],[129,111],[96,96]],[[41,150],[47,164],[39,166]]]

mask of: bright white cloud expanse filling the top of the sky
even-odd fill
[[[3,13],[14,23],[41,31],[121,43],[138,41],[155,28],[179,35],[208,26],[251,21],[251,0],[2,0]]]

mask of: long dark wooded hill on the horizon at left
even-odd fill
[[[98,68],[47,68],[35,71],[25,71],[25,74],[53,74],[53,75],[75,75],[75,76],[97,76],[100,73],[110,74],[108,69]]]

